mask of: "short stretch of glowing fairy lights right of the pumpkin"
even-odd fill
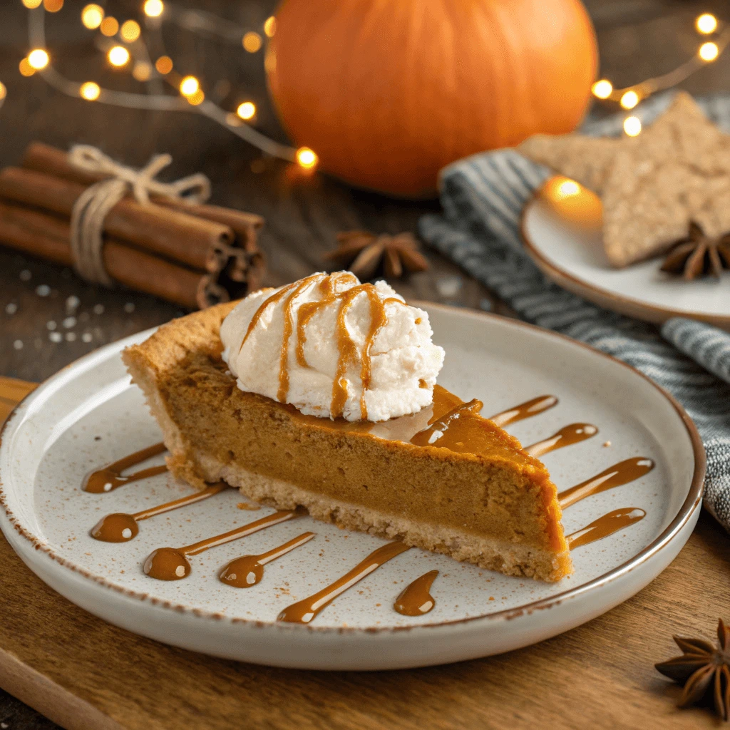
[[[672,88],[688,79],[692,74],[703,66],[717,61],[723,51],[730,44],[730,26],[721,28],[718,19],[710,12],[703,12],[694,21],[697,33],[704,37],[704,41],[697,48],[697,52],[688,58],[676,69],[639,82],[626,88],[614,88],[608,79],[601,79],[593,84],[593,96],[602,101],[616,102],[626,111],[634,109],[639,104],[657,91]],[[623,131],[629,137],[637,137],[641,134],[641,120],[634,115],[629,115],[623,120]]]

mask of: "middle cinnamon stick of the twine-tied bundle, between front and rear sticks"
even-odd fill
[[[84,185],[50,174],[19,167],[0,170],[0,198],[71,217]],[[170,261],[205,269],[216,245],[230,244],[229,226],[157,205],[140,205],[123,199],[112,208],[104,224],[110,236]]]

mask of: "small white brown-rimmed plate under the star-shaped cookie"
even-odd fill
[[[630,317],[656,323],[688,317],[730,329],[730,271],[723,272],[719,281],[704,277],[687,282],[662,273],[657,258],[615,269],[604,253],[600,209],[593,220],[577,225],[568,215],[570,207],[543,192],[550,189],[548,181],[526,204],[522,216],[526,248],[550,279]]]

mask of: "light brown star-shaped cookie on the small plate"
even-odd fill
[[[686,93],[639,137],[541,136],[519,150],[599,193],[613,266],[665,253],[691,220],[708,236],[730,231],[730,135]]]

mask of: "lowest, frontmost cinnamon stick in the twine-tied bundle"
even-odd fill
[[[70,226],[65,220],[0,201],[0,243],[3,245],[72,266],[69,234]],[[207,296],[210,285],[210,277],[203,272],[164,261],[124,242],[105,240],[104,266],[113,279],[129,288],[159,296],[180,307],[195,309],[213,303],[199,302],[199,296]],[[220,292],[215,293],[221,296]]]

